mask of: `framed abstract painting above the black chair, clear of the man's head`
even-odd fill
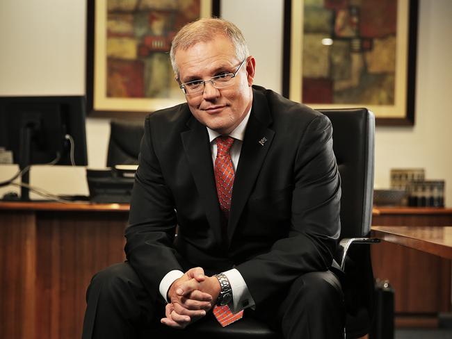
[[[284,0],[283,94],[414,124],[418,0]]]

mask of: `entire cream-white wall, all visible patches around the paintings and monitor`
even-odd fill
[[[282,0],[223,0],[257,60],[256,83],[281,91]],[[85,92],[86,1],[0,1],[0,95]],[[389,186],[392,167],[424,167],[446,179],[452,207],[452,1],[421,0],[419,8],[416,124],[378,127],[376,185]],[[90,167],[106,162],[108,120],[88,118]],[[75,172],[74,172],[75,171]],[[15,172],[0,166],[0,181]],[[56,193],[87,192],[83,170],[36,166],[31,182]],[[0,191],[0,194],[4,189]]]

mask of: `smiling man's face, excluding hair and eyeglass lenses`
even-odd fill
[[[177,51],[175,60],[180,83],[234,73],[243,61],[237,58],[232,43],[221,35]],[[201,124],[220,134],[232,132],[250,110],[254,75],[255,59],[250,56],[233,78],[233,85],[218,90],[209,82],[204,92],[186,94],[191,113]]]

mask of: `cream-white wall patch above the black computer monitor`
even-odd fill
[[[0,1],[0,95],[83,94],[85,1]]]

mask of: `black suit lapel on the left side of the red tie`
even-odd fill
[[[205,126],[193,116],[187,122],[189,131],[181,133],[182,143],[207,220],[218,240],[221,236],[221,215],[216,195],[209,134]]]

